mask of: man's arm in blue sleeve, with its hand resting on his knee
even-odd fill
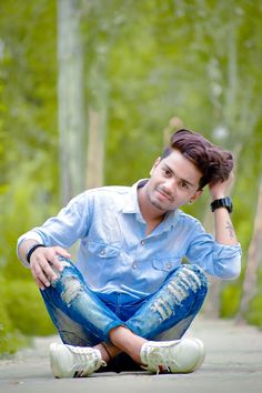
[[[66,248],[70,248],[78,239],[84,236],[88,225],[88,200],[85,193],[82,193],[71,200],[57,216],[19,238],[18,256],[26,266],[30,266],[39,288],[44,289],[57,279],[52,268],[62,270],[58,255],[71,258]],[[36,244],[43,246],[33,250],[29,264],[27,255]]]

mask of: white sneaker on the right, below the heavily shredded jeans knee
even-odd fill
[[[198,339],[175,341],[149,341],[142,345],[140,357],[147,370],[171,373],[191,373],[204,361],[204,344]]]

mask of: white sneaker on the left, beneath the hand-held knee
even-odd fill
[[[101,365],[107,365],[100,351],[93,347],[52,343],[49,350],[51,369],[56,377],[88,376]]]

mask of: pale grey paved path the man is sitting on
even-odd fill
[[[262,332],[232,321],[198,319],[189,335],[204,341],[206,359],[191,374],[100,373],[87,379],[52,377],[48,345],[57,337],[36,339],[32,349],[0,361],[2,393],[262,393]]]

